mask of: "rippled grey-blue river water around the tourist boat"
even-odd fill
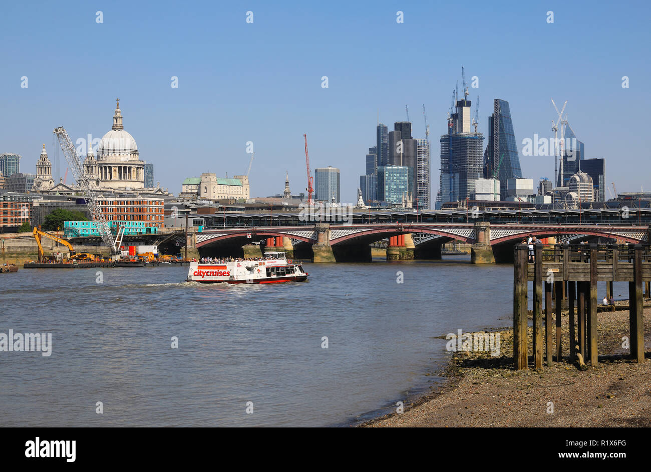
[[[441,382],[437,336],[512,325],[508,264],[304,267],[264,286],[186,283],[187,266],[0,275],[0,333],[52,339],[0,352],[0,424],[355,424]]]

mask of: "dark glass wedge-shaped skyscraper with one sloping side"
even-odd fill
[[[511,111],[508,102],[499,98],[493,100],[493,115],[488,117],[488,146],[484,152],[484,178],[493,178],[493,174],[500,182],[522,177]],[[502,186],[500,199],[505,198],[506,186]]]

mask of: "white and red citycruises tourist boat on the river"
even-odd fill
[[[232,260],[223,263],[190,262],[188,282],[230,284],[305,282],[308,273],[294,264],[285,253],[266,253],[256,260]]]

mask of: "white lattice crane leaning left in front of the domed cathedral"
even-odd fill
[[[61,145],[63,155],[66,157],[66,161],[68,161],[68,166],[70,166],[72,175],[77,181],[77,185],[81,190],[81,195],[86,201],[86,206],[88,206],[90,216],[92,217],[92,221],[95,223],[97,230],[102,237],[102,241],[109,248],[112,255],[117,254],[118,247],[122,243],[122,236],[124,236],[124,227],[120,225],[120,228],[118,229],[118,232],[115,235],[114,239],[113,234],[111,233],[111,228],[109,227],[109,223],[106,221],[104,212],[102,212],[102,207],[100,207],[99,200],[96,197],[92,186],[90,185],[90,176],[85,173],[83,164],[81,163],[79,156],[77,156],[77,150],[72,144],[72,140],[70,139],[70,136],[68,136],[68,132],[66,132],[63,126],[59,126],[59,128],[55,128],[54,133],[59,139],[59,145]]]

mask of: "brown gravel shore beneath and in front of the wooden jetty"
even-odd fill
[[[642,364],[628,359],[628,349],[622,348],[622,337],[630,335],[628,322],[628,311],[599,313],[599,364],[587,370],[568,357],[553,367],[513,370],[513,330],[499,331],[500,356],[457,352],[441,372],[447,383],[436,393],[405,404],[404,413],[360,426],[651,426],[651,309],[644,309]],[[565,313],[564,356],[569,355],[568,323]]]

